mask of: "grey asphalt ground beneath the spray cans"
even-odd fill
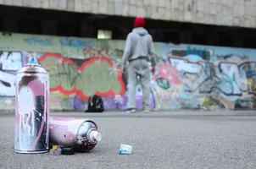
[[[0,113],[0,168],[256,168],[256,112],[51,112],[90,118],[102,141],[75,155],[14,152],[14,113]],[[133,147],[119,155],[120,144]]]

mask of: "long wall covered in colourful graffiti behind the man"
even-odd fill
[[[34,56],[50,74],[52,110],[84,111],[90,95],[108,110],[125,109],[127,74],[119,64],[125,41],[0,32],[0,110],[14,110],[15,72]],[[253,109],[256,49],[154,43],[151,107]],[[142,108],[140,82],[136,106]]]

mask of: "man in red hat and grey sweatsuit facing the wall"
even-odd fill
[[[125,50],[122,57],[122,70],[125,63],[128,62],[128,109],[127,113],[136,112],[136,80],[139,76],[142,82],[143,109],[150,111],[150,67],[151,61],[152,73],[155,71],[155,57],[152,36],[148,34],[145,27],[145,19],[141,16],[136,17],[134,29],[127,35],[125,41]]]

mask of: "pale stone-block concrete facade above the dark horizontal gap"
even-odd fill
[[[255,0],[0,0],[0,4],[256,28]]]

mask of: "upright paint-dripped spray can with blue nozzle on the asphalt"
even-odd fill
[[[16,74],[15,139],[17,153],[43,153],[48,148],[49,75],[31,57]]]

